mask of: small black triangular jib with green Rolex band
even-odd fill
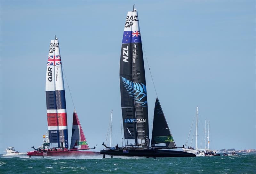
[[[159,147],[159,148],[176,147],[176,144],[172,138],[171,131],[165,120],[164,113],[158,98],[156,98],[156,104],[155,104],[151,147]]]

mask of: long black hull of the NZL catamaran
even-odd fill
[[[113,156],[137,156],[137,157],[194,157],[195,154],[176,150],[156,150],[156,149],[103,149],[103,155]]]

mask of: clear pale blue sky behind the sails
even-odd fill
[[[133,4],[176,145],[186,143],[199,107],[199,147],[206,119],[211,149],[256,149],[256,1],[1,0],[1,154],[8,146],[26,152],[43,143],[46,64],[55,34],[67,78],[69,142],[74,106],[68,85],[89,147],[104,148],[111,110],[112,142],[121,144],[119,61]],[[151,137],[156,93],[144,62]],[[195,124],[189,145],[194,130]]]

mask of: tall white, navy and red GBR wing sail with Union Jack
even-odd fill
[[[50,144],[60,147],[62,142],[68,148],[66,99],[58,39],[50,43],[45,91]]]

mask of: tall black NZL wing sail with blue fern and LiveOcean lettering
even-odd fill
[[[136,10],[126,16],[120,58],[120,90],[126,145],[149,146],[148,102]]]

